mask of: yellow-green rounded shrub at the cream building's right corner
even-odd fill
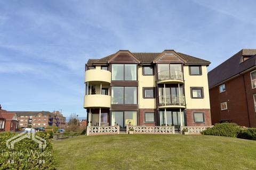
[[[235,123],[217,123],[212,128],[202,131],[205,135],[217,135],[224,137],[237,137],[241,127]]]

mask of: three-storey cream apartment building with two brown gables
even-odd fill
[[[211,125],[207,66],[175,52],[115,54],[85,65],[84,108],[89,126]]]

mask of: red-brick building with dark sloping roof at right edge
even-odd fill
[[[212,123],[256,128],[256,49],[242,49],[208,73]]]

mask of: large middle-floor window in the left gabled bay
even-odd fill
[[[111,104],[137,104],[137,87],[111,87]]]

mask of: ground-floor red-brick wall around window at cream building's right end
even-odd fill
[[[204,123],[195,123],[194,122],[194,112],[203,112],[204,113]],[[186,118],[188,126],[210,126],[211,122],[211,112],[210,109],[186,109]]]

